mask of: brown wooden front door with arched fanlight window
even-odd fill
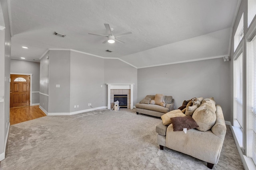
[[[11,74],[10,107],[30,106],[30,76]]]

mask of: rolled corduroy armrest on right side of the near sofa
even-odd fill
[[[227,131],[226,123],[220,105],[216,105],[216,122],[212,127],[212,133],[220,138],[225,137]]]

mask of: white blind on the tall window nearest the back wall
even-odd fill
[[[234,113],[243,128],[243,55],[234,61]]]

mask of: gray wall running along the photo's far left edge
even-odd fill
[[[4,143],[7,134],[6,123],[9,124],[10,118],[10,82],[8,81],[10,78],[10,56],[11,56],[11,34],[10,34],[10,23],[8,16],[8,8],[7,8],[7,0],[0,0],[2,6],[2,12],[4,16],[5,30],[4,32],[4,50],[3,50],[3,42],[0,41],[1,47],[1,55],[0,55],[0,63],[4,62],[4,72],[0,72],[0,84],[1,87],[4,86],[4,102],[0,104],[0,154],[4,152]],[[1,33],[1,38],[3,38],[3,32]],[[4,74],[4,80],[3,80]],[[4,85],[3,85],[4,84]],[[0,90],[2,96],[3,90]],[[4,108],[3,108],[4,107]]]

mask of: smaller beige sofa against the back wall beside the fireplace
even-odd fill
[[[165,113],[174,110],[174,99],[172,96],[164,96],[163,103],[165,103],[165,106],[161,106],[156,103],[150,104],[150,101],[152,103],[152,101],[155,100],[156,95],[147,95],[143,100],[135,104],[136,113],[161,117]]]

